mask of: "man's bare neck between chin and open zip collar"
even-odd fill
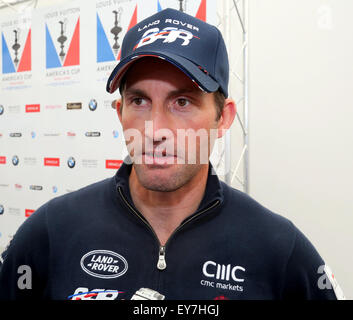
[[[132,167],[129,187],[132,201],[164,245],[181,222],[193,214],[204,196],[208,165],[184,186],[172,192],[152,191],[143,187]]]

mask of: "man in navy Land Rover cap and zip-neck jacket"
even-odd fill
[[[236,112],[215,27],[172,9],[142,21],[108,81],[117,88],[129,164],[19,228],[2,255],[2,299],[342,296],[290,221],[213,172],[214,140]]]

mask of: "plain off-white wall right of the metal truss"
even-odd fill
[[[250,194],[353,298],[353,1],[249,1]]]

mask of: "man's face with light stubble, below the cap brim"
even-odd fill
[[[213,93],[201,91],[172,64],[157,58],[134,63],[117,109],[146,189],[175,191],[208,163],[217,138],[210,139],[210,132],[218,132]]]

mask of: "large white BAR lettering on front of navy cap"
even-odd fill
[[[187,46],[190,44],[190,41],[193,38],[200,39],[199,37],[194,36],[190,31],[183,30],[183,29],[167,27],[160,31],[159,28],[152,28],[147,30],[143,34],[142,38],[138,41],[138,43],[134,47],[134,51],[145,45],[152,44],[157,40],[163,40],[163,43],[173,43],[177,39],[180,39],[182,40],[181,45]]]

